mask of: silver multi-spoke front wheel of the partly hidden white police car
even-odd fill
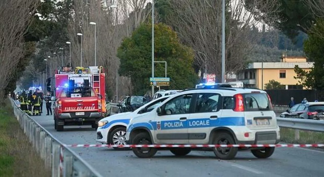
[[[109,135],[110,144],[113,145],[126,145],[126,128],[125,127],[119,127],[113,130]],[[115,150],[128,150],[130,148],[114,148]]]

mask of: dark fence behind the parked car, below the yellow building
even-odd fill
[[[308,101],[324,100],[323,90],[278,89],[265,91],[270,95],[274,105],[288,105],[291,97],[294,97],[295,103],[300,103],[304,98]]]

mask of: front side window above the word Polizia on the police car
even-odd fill
[[[188,114],[192,94],[181,95],[168,101],[164,106],[164,112],[166,115],[173,114]]]

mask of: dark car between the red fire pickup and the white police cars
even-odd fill
[[[127,96],[117,105],[118,113],[134,111],[146,103],[147,100],[142,96]]]

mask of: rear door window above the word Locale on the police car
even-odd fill
[[[195,113],[216,112],[219,94],[201,93],[197,97]]]

